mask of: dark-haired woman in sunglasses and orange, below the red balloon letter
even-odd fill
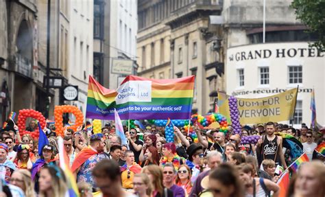
[[[14,164],[19,169],[31,170],[33,163],[29,158],[29,146],[26,144],[19,144],[17,148],[16,159],[14,159]]]

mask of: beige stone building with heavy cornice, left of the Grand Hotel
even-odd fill
[[[139,1],[139,76],[180,78],[195,75],[193,113],[213,111],[224,90],[220,27],[210,15],[221,14],[219,1]]]

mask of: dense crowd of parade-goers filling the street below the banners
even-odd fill
[[[28,130],[37,129],[31,122]],[[287,196],[325,196],[324,155],[315,153],[325,141],[325,128],[300,130],[268,122],[242,126],[241,135],[200,129],[197,139],[184,128],[173,127],[167,143],[165,128],[124,126],[122,143],[115,126],[101,133],[80,128],[64,132],[64,151],[81,196],[278,196],[283,170],[293,162],[281,135],[302,143],[309,162],[291,174]],[[45,129],[49,143],[40,147],[31,135],[19,135],[17,126],[1,130],[0,196],[65,196],[67,177],[59,167],[58,137],[53,125]],[[259,135],[256,144],[242,144],[242,136]],[[38,150],[40,148],[40,150]],[[282,169],[282,170],[281,170]]]

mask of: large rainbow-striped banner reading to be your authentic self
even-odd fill
[[[189,119],[195,76],[154,80],[128,76],[117,91],[89,76],[86,117],[115,119]]]

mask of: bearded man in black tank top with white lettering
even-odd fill
[[[285,155],[282,152],[282,137],[276,136],[274,131],[274,123],[269,121],[266,124],[267,135],[261,136],[257,142],[256,155],[258,165],[261,165],[264,159],[272,159],[275,163],[282,165],[286,169]]]

